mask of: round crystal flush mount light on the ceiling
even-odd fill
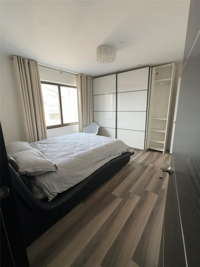
[[[98,46],[96,56],[96,60],[99,63],[112,63],[116,60],[116,48],[112,45]]]

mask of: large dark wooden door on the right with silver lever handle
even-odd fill
[[[200,266],[200,1],[191,1],[159,266]]]

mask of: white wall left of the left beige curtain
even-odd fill
[[[24,141],[12,60],[1,55],[0,119],[5,143]]]

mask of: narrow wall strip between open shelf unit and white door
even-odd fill
[[[169,120],[169,130],[168,130],[168,141],[167,141],[167,149],[170,149],[171,138],[172,138],[172,127],[173,127],[173,118],[174,118],[174,109],[176,103],[176,93],[178,86],[178,78],[181,77],[183,64],[176,65],[176,75],[174,80],[174,90],[173,90],[173,98],[172,98],[172,106]]]

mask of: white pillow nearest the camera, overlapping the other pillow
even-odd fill
[[[39,150],[31,149],[12,155],[19,167],[19,175],[37,176],[45,172],[55,172],[58,167],[47,159]]]

